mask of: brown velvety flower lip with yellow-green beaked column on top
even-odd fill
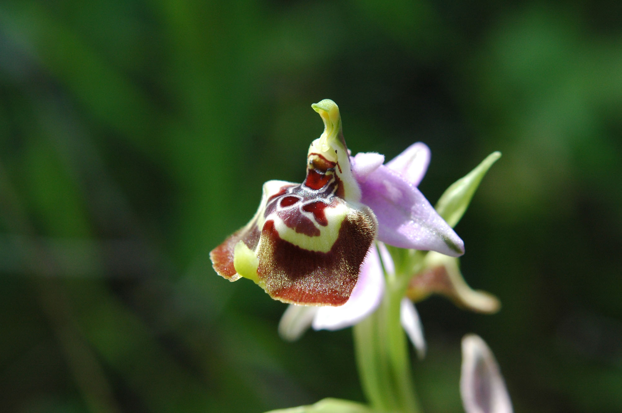
[[[309,147],[304,183],[264,184],[256,216],[210,257],[221,276],[253,279],[274,299],[341,306],[356,285],[378,224],[359,202],[337,104],[325,99],[313,109],[324,131]]]

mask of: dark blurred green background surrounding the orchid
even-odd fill
[[[2,1],[2,411],[363,401],[349,329],[283,342],[208,257],[304,178],[323,98],[355,153],[426,142],[432,203],[503,152],[456,229],[503,308],[418,305],[426,411],[462,410],[467,332],[516,411],[622,411],[622,3],[588,0]]]

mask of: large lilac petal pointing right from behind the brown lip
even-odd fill
[[[358,175],[361,202],[378,219],[378,239],[399,248],[432,250],[451,256],[464,253],[464,243],[414,185],[381,165],[367,176]]]

